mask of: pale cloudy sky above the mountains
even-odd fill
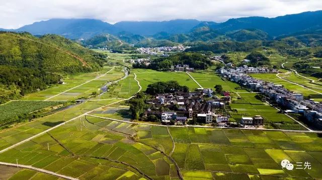
[[[2,0],[0,28],[17,29],[53,18],[120,21],[277,17],[322,10],[321,0]]]

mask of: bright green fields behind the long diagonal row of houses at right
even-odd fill
[[[308,89],[305,89],[303,87],[300,87],[296,84],[292,84],[290,82],[284,81],[282,79],[279,79],[276,74],[252,74],[251,75],[254,78],[261,79],[267,82],[273,82],[276,84],[283,85],[286,89],[290,91],[294,91],[297,93],[301,93],[306,97],[310,97],[311,99],[314,99],[315,101],[322,101],[322,95],[317,94],[313,91],[310,91]],[[312,84],[309,80],[306,80],[300,76],[296,76],[294,73],[283,73],[279,75],[280,77],[283,77],[289,81],[301,84],[303,86],[306,86],[314,91],[321,92],[322,93],[322,85],[318,84]]]

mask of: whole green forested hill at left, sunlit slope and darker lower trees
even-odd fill
[[[61,74],[101,69],[103,55],[70,40],[0,33],[0,103],[58,82]]]

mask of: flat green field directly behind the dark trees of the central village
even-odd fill
[[[146,90],[147,85],[158,81],[178,81],[180,85],[188,86],[190,91],[200,88],[186,72],[158,72],[151,70],[145,71],[142,69],[140,72],[132,72],[136,74],[136,79],[140,82],[142,91]]]

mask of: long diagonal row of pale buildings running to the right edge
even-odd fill
[[[284,111],[284,113],[303,114],[303,116],[312,124],[322,127],[322,103],[314,102],[313,100],[304,100],[302,94],[289,91],[282,85],[269,83],[250,77],[249,75],[247,75],[247,73],[249,72],[246,69],[249,68],[221,68],[218,70],[218,72],[230,81],[252,89],[253,91],[262,93],[271,101],[277,103],[284,109],[287,109]],[[269,73],[273,71],[274,70],[266,70],[266,72]]]

